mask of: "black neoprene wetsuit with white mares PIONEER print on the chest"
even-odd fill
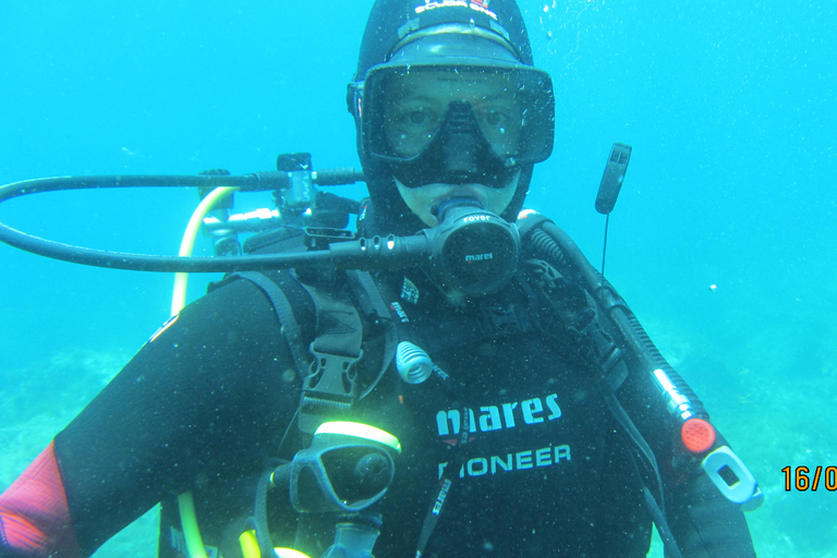
[[[352,414],[403,447],[375,556],[415,554],[463,408],[473,412],[472,439],[425,556],[645,556],[651,520],[635,451],[584,353],[539,332],[522,311],[506,330],[476,330],[485,322],[480,308],[531,306],[517,280],[454,307],[421,271],[408,275],[417,286],[417,301],[416,291],[407,296],[414,304],[402,296],[404,274],[376,276],[386,303],[396,303],[390,317],[416,332],[413,340],[458,388],[451,395],[434,381],[407,385],[390,367]],[[473,331],[462,336],[462,328]],[[446,347],[469,336],[468,347]],[[374,343],[365,350],[372,360],[380,352]],[[54,440],[81,554],[165,501],[160,556],[181,556],[174,498],[187,490],[205,544],[234,543],[253,513],[265,463],[300,449],[299,386],[259,288],[235,280],[190,304]],[[651,379],[629,377],[618,393],[660,463],[668,522],[683,555],[754,556],[742,513],[699,470],[667,465],[676,438],[662,426],[665,417],[648,411],[660,407]],[[287,495],[271,494],[269,507],[276,545],[291,546],[296,514]]]

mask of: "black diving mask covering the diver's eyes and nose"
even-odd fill
[[[409,187],[475,182],[502,187],[510,169],[551,153],[551,80],[534,68],[399,63],[375,66],[355,93],[367,155]],[[415,177],[422,169],[421,177]],[[433,175],[425,175],[432,171]],[[487,177],[487,178],[486,178]]]

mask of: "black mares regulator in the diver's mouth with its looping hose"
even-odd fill
[[[282,155],[277,171],[230,175],[208,171],[198,175],[62,177],[0,186],[0,203],[23,195],[82,189],[198,187],[204,199],[193,215],[190,242],[180,256],[130,254],[73,246],[33,236],[0,222],[0,242],[41,256],[88,266],[161,272],[229,272],[283,268],[386,270],[423,267],[446,292],[478,296],[501,289],[514,274],[520,252],[517,226],[488,211],[472,198],[454,198],[435,208],[441,225],[413,236],[355,239],[330,225],[348,222],[357,202],[318,192],[317,185],[363,180],[352,169],[314,171],[308,154]],[[215,207],[233,192],[272,191],[276,210],[231,215]],[[214,215],[209,215],[215,211]],[[219,218],[219,216],[221,218]],[[192,226],[192,222],[190,223]],[[239,255],[238,234],[277,227],[301,229],[308,252]],[[191,245],[203,227],[223,257],[192,257]],[[222,242],[219,242],[222,241]],[[222,248],[220,247],[222,246]],[[245,244],[246,246],[246,244]],[[246,252],[246,250],[245,250]]]

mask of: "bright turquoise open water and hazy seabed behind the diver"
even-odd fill
[[[357,167],[345,84],[371,4],[8,2],[0,183],[247,173],[291,151]],[[557,99],[555,153],[526,206],[598,266],[596,189],[611,144],[633,146],[606,275],[765,492],[748,514],[759,555],[837,556],[837,493],[786,492],[781,471],[837,465],[836,2],[520,5]],[[0,220],[175,254],[197,201],[193,190],[50,193],[3,204]],[[236,210],[268,205],[236,196]],[[0,266],[3,489],[168,317],[172,278],[7,245]],[[190,298],[217,277],[194,278]],[[96,556],[156,556],[155,511]]]

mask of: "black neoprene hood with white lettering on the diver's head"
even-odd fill
[[[529,35],[514,0],[376,0],[366,22],[354,81],[363,82],[371,68],[392,61],[392,54],[403,50],[415,38],[435,29],[456,33],[456,29],[463,29],[463,26],[488,37],[484,39],[486,44],[494,44],[495,47],[501,45],[522,65],[533,65]],[[473,56],[484,61],[482,51],[477,50]],[[439,61],[445,63],[447,59],[442,56]],[[348,100],[349,109],[355,116],[357,151],[372,199],[373,215],[366,216],[366,227],[373,228],[376,233],[398,234],[413,234],[425,228],[401,199],[389,166],[365,154],[361,120],[351,89]],[[517,220],[532,178],[533,165],[520,167],[518,190],[501,215],[510,222]]]

